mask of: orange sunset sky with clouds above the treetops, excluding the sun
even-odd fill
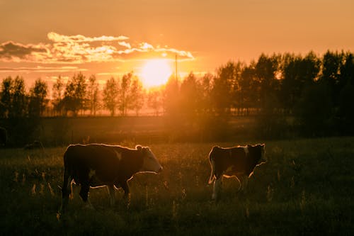
[[[262,52],[354,51],[352,0],[0,0],[0,79],[215,72]]]

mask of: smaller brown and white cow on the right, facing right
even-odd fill
[[[209,154],[212,173],[209,184],[214,182],[212,199],[218,200],[222,188],[222,177],[235,176],[245,191],[249,177],[256,166],[266,162],[265,145],[246,145],[238,147],[212,147]]]

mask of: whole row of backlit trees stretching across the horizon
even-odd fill
[[[156,116],[191,127],[256,115],[263,133],[278,133],[290,125],[309,135],[321,135],[321,130],[352,134],[353,84],[353,53],[331,51],[322,56],[262,54],[249,63],[229,61],[213,74],[190,72],[182,80],[171,76],[164,87],[149,91],[132,72],[111,77],[101,90],[94,75],[86,79],[79,73],[66,84],[58,77],[52,99],[42,79],[27,92],[22,77],[7,77],[1,83],[0,118],[40,117],[49,106],[54,116],[84,111],[96,116],[101,109],[111,116],[127,116],[128,111],[138,115],[145,106]]]

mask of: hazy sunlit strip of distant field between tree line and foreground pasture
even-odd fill
[[[171,124],[164,116],[128,116],[128,117],[76,117],[76,118],[42,118],[38,130],[38,139],[44,145],[62,145],[72,142],[176,142],[191,137],[203,140],[205,135],[193,127],[184,127],[175,121]],[[182,125],[176,127],[176,125]],[[215,128],[211,125],[209,129]],[[251,137],[253,135],[254,117],[235,116],[229,120],[228,138]],[[209,139],[215,139],[215,136]]]

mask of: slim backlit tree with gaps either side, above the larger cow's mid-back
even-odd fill
[[[115,109],[118,107],[118,82],[113,77],[105,82],[103,89],[103,104],[110,111],[110,116],[115,116]]]

